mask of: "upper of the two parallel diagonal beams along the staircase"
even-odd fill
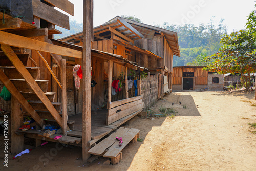
[[[57,123],[62,127],[63,121],[59,113],[56,111],[51,101],[47,98],[45,93],[41,90],[38,84],[35,82],[34,78],[30,75],[28,70],[25,68],[23,63],[19,60],[15,52],[8,45],[1,44],[1,49],[4,51],[9,60],[13,63],[14,67],[17,71],[24,77],[28,85],[31,89],[36,93],[38,98],[45,104],[48,111],[51,113],[53,118],[57,121]]]

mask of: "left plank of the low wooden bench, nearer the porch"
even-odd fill
[[[88,153],[93,155],[101,155],[105,151],[105,149],[107,149],[116,141],[118,141],[116,137],[121,137],[123,134],[125,134],[129,130],[130,129],[120,127],[120,129],[118,129],[115,133],[111,134],[108,138],[104,139],[103,141],[95,145],[93,148],[91,148],[88,151]]]

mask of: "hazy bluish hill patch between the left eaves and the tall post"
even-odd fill
[[[76,21],[70,20],[69,24],[70,30],[56,26],[56,29],[61,31],[62,34],[54,35],[54,39],[60,39],[82,31],[82,23],[77,23]]]

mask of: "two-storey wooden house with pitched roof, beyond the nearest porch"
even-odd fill
[[[119,16],[94,27],[93,31],[93,49],[121,55],[148,69],[151,74],[165,75],[167,89],[171,89],[173,55],[180,56],[176,32]],[[60,40],[81,45],[82,39],[83,33],[80,32]],[[119,76],[124,71],[125,67],[114,65],[114,76]]]

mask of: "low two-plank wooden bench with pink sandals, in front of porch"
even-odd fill
[[[115,133],[111,134],[108,138],[99,142],[88,153],[93,155],[99,155],[111,159],[111,164],[116,165],[122,159],[122,149],[130,142],[136,142],[139,138],[138,129],[129,129],[120,127]],[[119,146],[119,141],[116,137],[122,137],[123,144]]]

